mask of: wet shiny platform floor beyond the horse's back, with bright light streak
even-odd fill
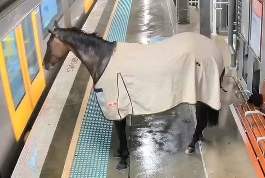
[[[148,38],[173,34],[167,1],[133,1],[127,42],[146,44]]]

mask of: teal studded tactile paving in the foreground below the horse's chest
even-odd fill
[[[104,118],[91,91],[83,118],[70,178],[107,177],[113,123]]]

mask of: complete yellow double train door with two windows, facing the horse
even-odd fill
[[[0,74],[16,140],[45,87],[35,12],[0,43]]]

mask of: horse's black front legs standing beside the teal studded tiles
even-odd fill
[[[117,170],[124,170],[127,168],[128,158],[129,158],[129,151],[127,148],[127,140],[126,140],[126,119],[124,118],[121,121],[114,121],[116,132],[118,134],[120,140],[120,148],[114,153],[115,158],[121,158],[120,163],[117,165]]]

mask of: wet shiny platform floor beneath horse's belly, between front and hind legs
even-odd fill
[[[204,177],[198,146],[194,155],[185,154],[193,124],[186,104],[161,114],[133,117],[130,177]]]

